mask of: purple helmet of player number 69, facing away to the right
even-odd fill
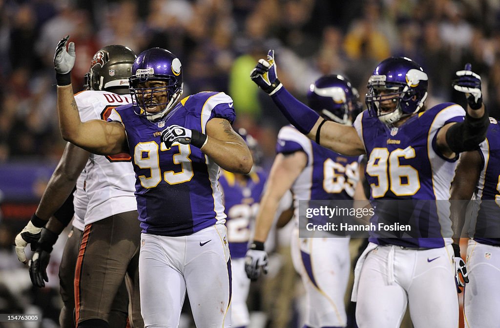
[[[321,76],[310,85],[307,100],[309,107],[321,117],[341,124],[350,124],[356,96],[346,77]]]

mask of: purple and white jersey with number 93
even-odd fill
[[[223,92],[200,92],[182,99],[159,121],[136,115],[132,105],[113,110],[108,120],[123,124],[135,171],[135,196],[143,233],[186,236],[225,220],[217,188],[219,166],[199,148],[174,142],[165,148],[161,131],[177,124],[205,133],[212,118],[231,124],[232,99]]]

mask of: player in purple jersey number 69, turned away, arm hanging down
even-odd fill
[[[346,125],[351,125],[352,113],[359,107],[356,96],[355,89],[342,75],[320,77],[307,93],[309,106],[321,117]],[[344,294],[350,268],[349,238],[333,238],[321,232],[299,238],[298,202],[338,200],[352,207],[359,181],[359,156],[342,156],[321,147],[289,125],[278,133],[276,152],[257,214],[253,243],[246,253],[245,270],[249,278],[256,280],[259,267],[266,265],[264,242],[281,197],[291,190],[296,224],[291,249],[293,265],[306,292],[304,328],[346,327]]]

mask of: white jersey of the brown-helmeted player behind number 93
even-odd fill
[[[106,120],[111,110],[130,103],[130,95],[86,90],[75,95],[82,122]],[[135,173],[129,154],[102,156],[90,154],[85,165],[85,191],[88,197],[85,225],[111,215],[136,211]]]

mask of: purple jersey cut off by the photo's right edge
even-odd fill
[[[479,145],[482,169],[473,199],[477,212],[473,220],[474,240],[500,246],[500,125],[490,118],[486,139]]]

